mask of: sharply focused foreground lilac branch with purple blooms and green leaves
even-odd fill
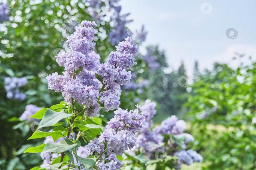
[[[130,82],[131,71],[127,71],[127,69],[137,64],[134,58],[138,51],[137,44],[133,42],[131,37],[125,38],[116,46],[116,51],[109,54],[108,61],[100,64],[100,57],[94,51],[94,26],[96,26],[95,22],[82,21],[81,25],[76,27],[74,34],[67,37],[70,49],[66,52],[59,52],[56,57],[57,63],[64,67],[63,73],[60,75],[55,72],[46,77],[49,89],[61,92],[66,105],[44,108],[43,111],[39,110],[30,116],[30,118],[42,119],[39,129],[50,125],[55,126],[56,119],[58,122],[66,118],[70,124],[68,131],[62,125],[57,125],[49,132],[42,132],[38,129],[30,137],[30,139],[39,138],[38,135],[41,133],[44,135],[40,135],[40,137],[47,136],[41,154],[44,159],[44,164],[41,167],[54,166],[53,159],[56,156],[61,157],[60,163],[62,163],[64,155],[70,156],[66,152],[71,149],[72,159],[75,160],[71,166],[76,166],[78,169],[80,167],[82,169],[88,168],[87,164],[84,163],[88,159],[94,162],[90,167],[119,169],[121,161],[118,161],[116,156],[122,155],[125,150],[131,149],[135,145],[135,133],[145,123],[147,115],[139,113],[140,107],[138,105],[136,110],[129,112],[119,108],[120,85]],[[107,122],[106,128],[95,122],[96,125],[79,122],[81,116],[84,117],[83,120],[99,116],[101,108],[104,108],[105,111],[118,109],[114,111],[115,116]],[[69,114],[65,113],[65,109],[68,110]],[[41,115],[42,113],[44,114]],[[78,118],[79,116],[80,118]],[[77,138],[72,141],[70,136],[74,136],[74,125],[79,127],[80,132],[77,134]],[[87,132],[87,134],[91,134],[89,138],[93,138],[93,133],[100,132],[98,133],[100,134],[99,138],[94,137],[84,147],[75,147],[79,137],[84,136],[83,133],[89,129],[94,129],[91,133]],[[63,139],[62,136],[65,136],[66,139]],[[65,140],[73,144],[68,144]],[[70,145],[74,145],[74,147],[70,147]],[[57,148],[52,150],[52,147]],[[76,150],[76,148],[78,149]],[[49,153],[49,150],[52,153]],[[91,156],[96,159],[91,159]]]

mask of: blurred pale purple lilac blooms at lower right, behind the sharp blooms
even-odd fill
[[[152,131],[150,130],[150,127],[152,127],[151,118],[156,113],[155,106],[155,102],[151,102],[150,100],[146,100],[145,104],[142,106],[142,113],[148,113],[148,117],[146,118],[146,124],[139,131],[135,143],[136,146],[129,150],[129,153],[135,155],[135,153],[140,150],[149,159],[155,159],[155,151],[162,149],[171,156],[177,156],[178,165],[175,167],[177,169],[180,168],[181,164],[190,165],[193,162],[201,162],[203,158],[200,154],[193,150],[185,150],[186,144],[193,141],[194,137],[188,133],[184,133],[186,130],[186,122],[183,120],[178,120],[176,116],[171,116],[164,120],[160,126],[156,126]],[[185,136],[184,144],[181,146],[182,149],[177,147],[178,145],[175,141],[171,142],[170,139],[167,146],[164,146],[163,134],[175,135],[176,137]],[[172,153],[168,153],[168,148],[170,147],[174,150]]]

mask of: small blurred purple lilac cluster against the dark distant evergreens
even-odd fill
[[[160,63],[157,62],[157,56],[153,55],[153,50],[148,48],[147,54],[142,56],[142,59],[148,64],[148,71],[154,71],[160,67]]]

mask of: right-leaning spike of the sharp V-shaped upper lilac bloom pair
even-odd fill
[[[120,85],[125,85],[131,80],[131,71],[126,71],[131,66],[137,64],[134,54],[138,51],[138,46],[131,37],[125,38],[116,46],[116,51],[109,54],[107,63],[99,65],[97,74],[103,77],[104,93],[100,93],[100,102],[104,103],[106,110],[119,108],[120,105]]]

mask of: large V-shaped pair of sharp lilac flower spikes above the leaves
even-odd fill
[[[135,62],[134,54],[138,50],[130,37],[116,46],[117,51],[109,54],[109,61],[100,64],[100,56],[94,50],[95,22],[82,21],[81,26],[67,37],[70,50],[59,52],[56,61],[64,66],[63,75],[57,72],[46,77],[49,89],[62,92],[65,101],[71,105],[71,99],[84,105],[87,116],[98,116],[101,106],[105,110],[119,108],[120,85],[130,82],[131,71],[126,71]],[[80,70],[80,72],[76,72]],[[94,71],[103,77],[99,82]]]

